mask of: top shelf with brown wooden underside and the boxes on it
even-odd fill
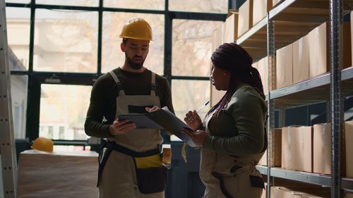
[[[262,5],[266,4],[264,2],[267,2],[267,5]],[[244,47],[256,62],[268,55],[268,20],[273,20],[275,23],[275,49],[280,49],[327,21],[328,2],[328,0],[280,2],[248,0],[237,13],[241,25],[237,28],[237,36],[234,40]],[[253,6],[255,4],[257,6]],[[347,13],[350,10],[349,1],[345,1],[344,5],[344,12]]]

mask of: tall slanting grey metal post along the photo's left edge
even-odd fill
[[[0,154],[4,197],[16,197],[17,163],[13,137],[5,1],[0,0]],[[1,196],[0,196],[1,197]]]

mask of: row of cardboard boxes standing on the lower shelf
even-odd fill
[[[353,178],[353,121],[342,126],[343,176]],[[282,168],[309,173],[331,174],[331,125],[289,126],[282,128]],[[345,160],[344,160],[345,159]]]

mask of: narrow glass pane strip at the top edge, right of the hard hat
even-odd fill
[[[227,13],[228,0],[169,0],[169,11]]]

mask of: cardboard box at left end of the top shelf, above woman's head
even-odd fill
[[[246,0],[239,7],[238,37],[253,27],[253,0]]]

